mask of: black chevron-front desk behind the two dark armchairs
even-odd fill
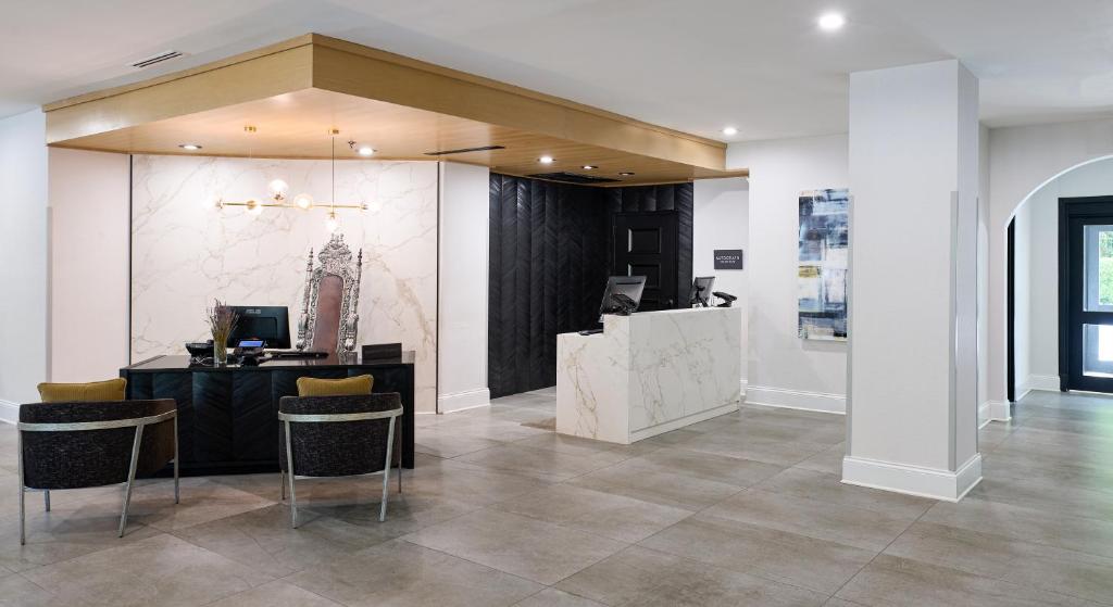
[[[398,392],[402,465],[414,467],[414,354],[363,362],[336,358],[269,360],[257,367],[190,366],[188,356],[159,356],[120,369],[128,398],[178,404],[183,475],[278,471],[278,399],[297,396],[297,378],[371,374],[373,391]]]

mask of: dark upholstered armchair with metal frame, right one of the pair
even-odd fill
[[[402,415],[397,392],[359,396],[284,396],[278,401],[282,497],[289,478],[290,526],[297,528],[295,476],[334,477],[383,472],[378,520],[386,520],[392,464],[402,488],[401,440],[394,439]],[[293,467],[289,462],[293,461]]]

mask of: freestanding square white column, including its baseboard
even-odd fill
[[[977,137],[958,61],[850,74],[844,482],[956,500],[982,478]]]

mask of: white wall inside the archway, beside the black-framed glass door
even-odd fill
[[[1053,179],[1016,211],[1017,285],[1030,287],[1016,291],[1014,335],[1025,337],[1016,342],[1017,397],[1030,389],[1058,390],[1058,199],[1083,196],[1113,196],[1113,159]],[[1027,223],[1023,232],[1021,218]]]

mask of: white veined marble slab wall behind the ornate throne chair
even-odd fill
[[[289,196],[332,199],[332,166],[317,160],[136,156],[131,211],[131,357],[184,354],[207,337],[205,307],[288,306],[296,340],[309,249],[328,241],[326,212],[211,202],[259,199],[283,179]],[[436,402],[437,170],[435,162],[336,162],[337,211],[353,255],[363,248],[359,342],[416,350],[418,411]]]

